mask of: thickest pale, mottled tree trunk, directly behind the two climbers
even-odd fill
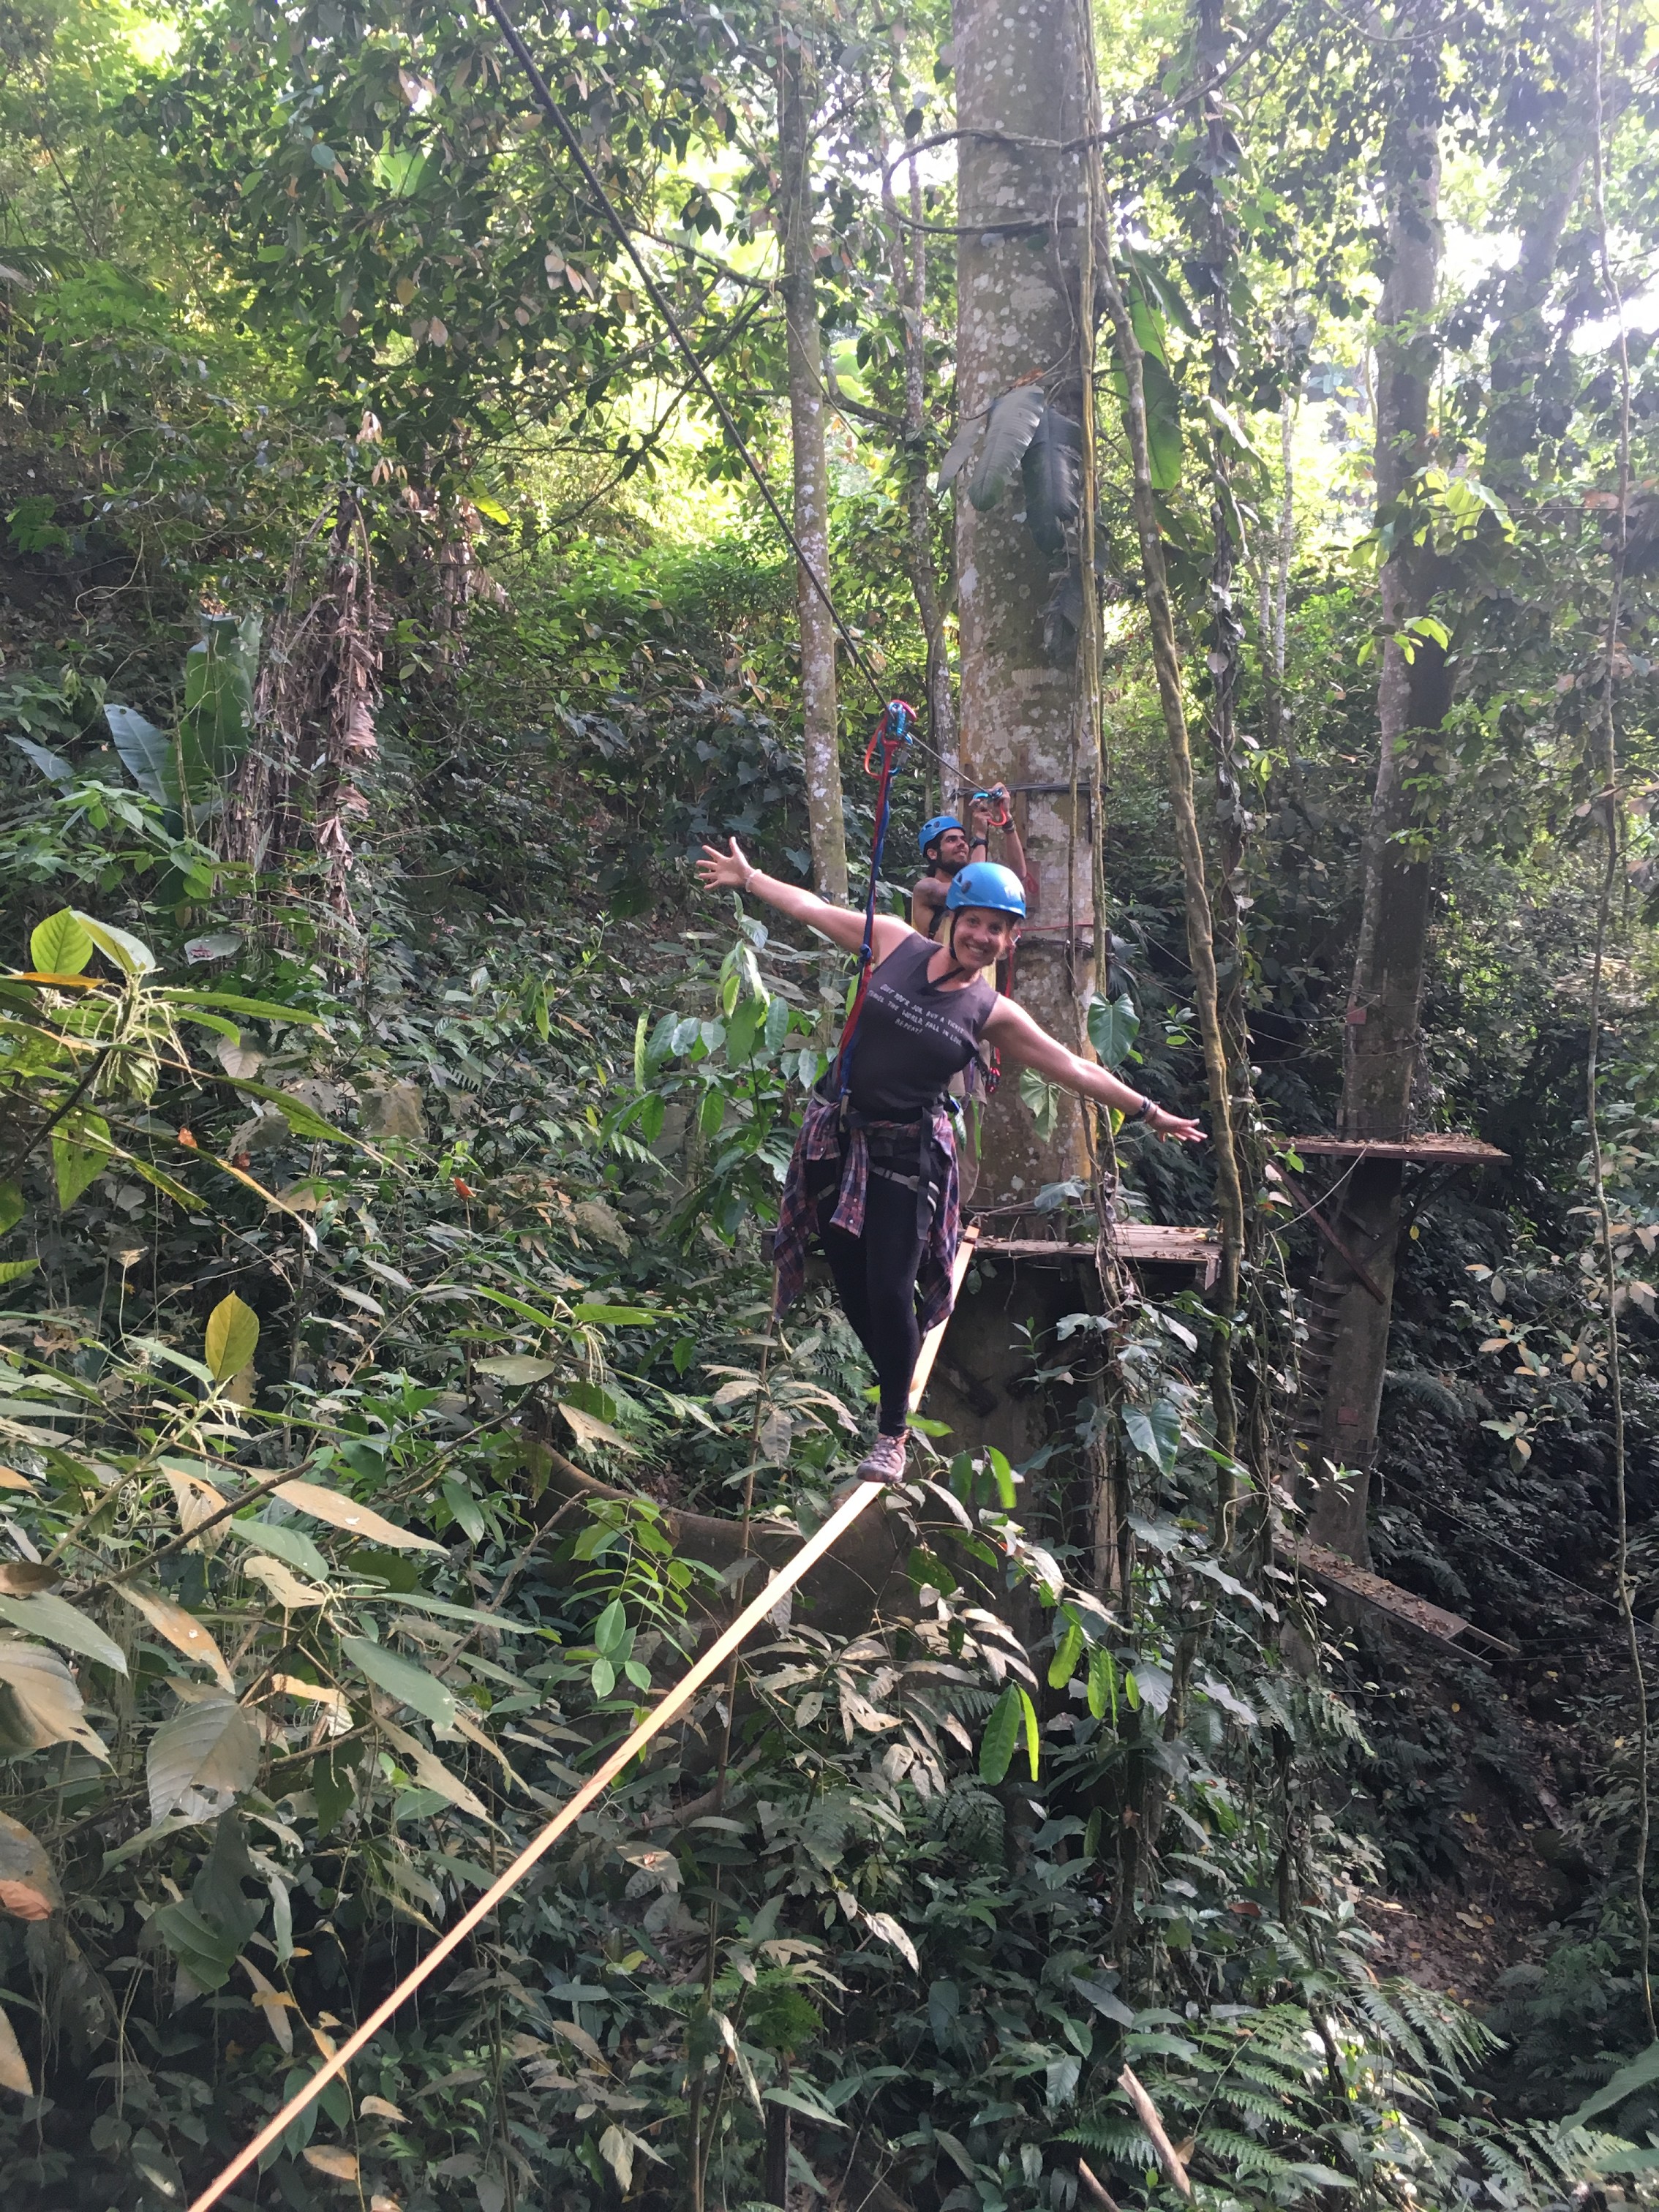
[[[956,0],[953,29],[956,119],[967,133],[958,168],[958,409],[964,420],[984,414],[1011,385],[1042,376],[1051,405],[1079,422],[1086,157],[1060,155],[1053,142],[1091,128],[1095,51],[1086,11]],[[1071,644],[1044,650],[1051,562],[1015,520],[1020,504],[1013,491],[980,513],[958,480],[962,768],[978,783],[1002,776],[1046,785],[1018,799],[1037,896],[1020,940],[1015,998],[1073,1044],[1095,980],[1091,812],[1079,801],[1073,823],[1071,805],[1073,783],[1086,783],[1093,770],[1084,754],[1088,708]],[[1084,1172],[1077,1102],[1064,1095],[1044,1141],[1018,1084],[1006,1082],[987,1113],[980,1199],[1031,1203],[1044,1183]]]

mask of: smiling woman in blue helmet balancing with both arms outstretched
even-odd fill
[[[863,947],[865,916],[763,876],[737,838],[730,854],[712,845],[703,845],[703,854],[697,872],[710,891],[752,891],[834,945]],[[960,1219],[945,1086],[980,1044],[1024,1062],[1044,1082],[1115,1106],[1157,1137],[1203,1139],[1197,1121],[1183,1121],[1106,1068],[1068,1053],[982,980],[982,969],[1013,949],[1024,911],[1020,878],[993,860],[973,860],[951,878],[942,945],[907,922],[876,916],[869,989],[854,1015],[858,1048],[847,1097],[832,1071],[794,1141],[779,1210],[779,1312],[801,1290],[807,1237],[816,1232],[841,1310],[880,1383],[878,1436],[858,1469],[865,1482],[896,1482],[905,1473],[916,1356],[922,1336],[951,1310]],[[843,1037],[843,1053],[845,1046]]]

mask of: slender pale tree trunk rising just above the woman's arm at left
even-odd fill
[[[779,40],[779,219],[787,323],[794,535],[801,560],[801,748],[807,774],[812,883],[821,898],[847,898],[847,825],[841,812],[836,730],[836,628],[818,584],[830,584],[830,465],[823,449],[823,345],[812,259],[812,58]],[[814,584],[814,573],[818,584]]]

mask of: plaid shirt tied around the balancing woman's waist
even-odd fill
[[[818,1225],[818,1199],[827,1177],[814,1175],[823,1161],[841,1161],[841,1188],[832,1225],[849,1237],[865,1234],[865,1197],[869,1190],[869,1139],[876,1139],[876,1175],[891,1175],[889,1159],[900,1159],[914,1144],[916,1219],[927,1225],[922,1263],[916,1270],[916,1301],[922,1334],[938,1327],[951,1312],[951,1265],[962,1241],[962,1203],[956,1175],[956,1126],[942,1104],[918,1121],[869,1121],[849,1110],[841,1121],[841,1099],[810,1099],[801,1133],[783,1179],[779,1228],[772,1259],[779,1270],[774,1312],[785,1314],[801,1296],[807,1270],[807,1243]],[[894,1177],[911,1181],[909,1175]]]

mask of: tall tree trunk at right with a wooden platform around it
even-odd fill
[[[1427,80],[1427,82],[1425,82]],[[1429,327],[1440,274],[1440,86],[1438,58],[1407,82],[1405,113],[1387,148],[1389,274],[1376,341],[1376,511],[1394,520],[1427,460],[1436,338]],[[1383,564],[1383,677],[1376,692],[1378,770],[1365,834],[1365,907],[1354,956],[1343,1057],[1345,1137],[1400,1139],[1411,1121],[1418,1009],[1429,945],[1429,860],[1409,836],[1409,734],[1438,730],[1449,703],[1444,653],[1420,639],[1411,659],[1394,633],[1429,613],[1431,555],[1400,529]],[[1394,1305],[1400,1230],[1400,1164],[1363,1161],[1343,1186],[1338,1232],[1365,1263],[1383,1298],[1327,1248],[1325,1285],[1340,1301],[1321,1411],[1307,1531],[1365,1559],[1365,1504],[1376,1455],[1383,1369]],[[1327,1467],[1347,1469],[1332,1480]]]

